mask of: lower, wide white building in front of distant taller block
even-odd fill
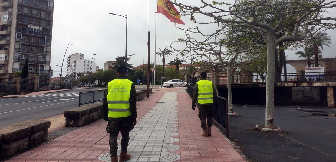
[[[91,69],[90,69],[91,65]],[[97,63],[94,62],[94,59],[91,64],[91,60],[87,60],[85,58],[75,60],[69,66],[69,74],[71,73],[81,73],[81,72],[96,72]],[[68,74],[68,72],[67,72]]]

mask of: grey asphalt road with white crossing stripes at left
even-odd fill
[[[62,114],[66,110],[78,107],[79,92],[92,90],[94,89],[75,89],[35,96],[1,99],[0,127]]]

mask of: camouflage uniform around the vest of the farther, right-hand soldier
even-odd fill
[[[207,79],[201,79],[201,80],[207,80]],[[195,84],[194,87],[194,94],[193,94],[193,102],[192,105],[195,105],[197,103],[198,98],[198,85]],[[201,119],[201,128],[207,129],[208,126],[212,126],[212,115],[213,115],[213,105],[217,104],[217,92],[215,87],[212,85],[213,89],[213,103],[212,104],[198,104],[198,117]],[[207,121],[205,121],[205,118]]]

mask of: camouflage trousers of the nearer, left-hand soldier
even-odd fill
[[[126,120],[122,122],[111,122],[109,121],[106,132],[110,133],[110,152],[112,157],[117,156],[118,151],[118,134],[119,130],[122,136],[121,139],[121,151],[126,151],[129,141],[129,131],[131,131],[132,122],[131,120]]]

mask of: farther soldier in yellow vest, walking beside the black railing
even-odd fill
[[[198,117],[201,119],[203,137],[211,136],[213,107],[218,109],[217,93],[212,82],[207,79],[207,73],[201,72],[201,80],[195,84],[192,109],[198,103]],[[205,121],[205,118],[207,121]],[[208,127],[207,127],[208,126]]]

